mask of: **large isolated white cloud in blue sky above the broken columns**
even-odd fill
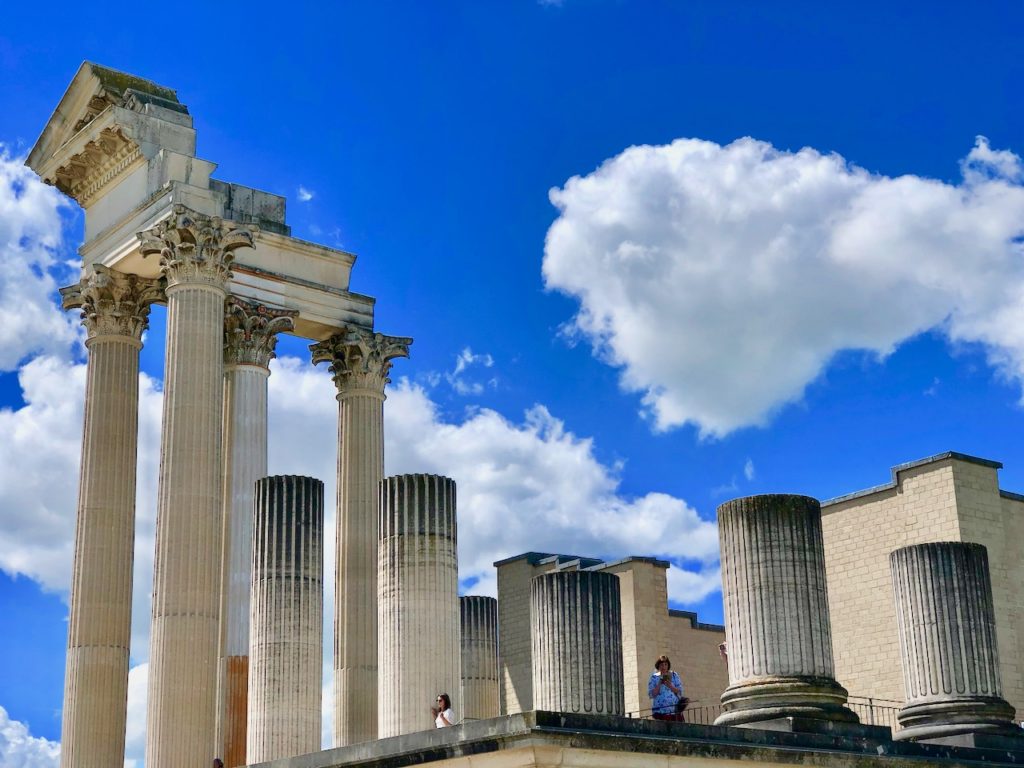
[[[1024,380],[1021,160],[979,138],[962,174],[752,138],[634,146],[551,191],[544,278],[658,430],[764,423],[839,350],[932,328]]]

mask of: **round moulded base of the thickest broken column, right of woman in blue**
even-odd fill
[[[772,677],[731,685],[722,694],[724,712],[715,725],[758,727],[784,718],[859,723],[846,708],[847,691],[831,678]]]

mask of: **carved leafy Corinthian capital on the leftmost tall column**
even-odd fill
[[[93,264],[84,278],[60,289],[65,309],[81,309],[89,338],[128,336],[135,341],[150,324],[150,305],[162,300],[162,281]]]

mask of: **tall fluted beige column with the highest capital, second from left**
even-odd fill
[[[175,206],[139,239],[167,279],[145,765],[195,768],[217,749],[225,285],[253,233]]]

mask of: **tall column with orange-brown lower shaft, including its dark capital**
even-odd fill
[[[278,334],[297,312],[228,297],[224,316],[224,528],[220,586],[218,743],[227,768],[245,765],[253,496],[266,475],[266,380]]]

